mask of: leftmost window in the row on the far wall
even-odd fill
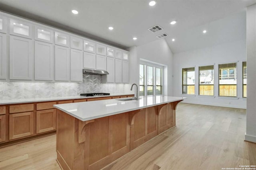
[[[195,68],[182,68],[182,94],[195,94]]]

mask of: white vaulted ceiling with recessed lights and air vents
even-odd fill
[[[126,49],[165,37],[173,53],[245,39],[256,0],[0,0],[0,10]],[[79,14],[72,14],[71,10]],[[177,21],[170,25],[170,21]],[[148,28],[160,25],[152,33]],[[109,26],[114,27],[112,31]],[[206,34],[202,31],[207,30]],[[137,37],[134,41],[132,38]],[[175,39],[175,41],[172,41]]]

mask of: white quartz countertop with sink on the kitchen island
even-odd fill
[[[183,100],[182,97],[172,96],[148,96],[140,97],[140,100],[120,101],[116,99],[98,100],[91,102],[79,102],[70,104],[54,105],[57,109],[80,119],[81,121],[88,121],[100,117],[116,115],[146,107],[157,106],[170,102]],[[126,98],[128,99],[128,98]]]

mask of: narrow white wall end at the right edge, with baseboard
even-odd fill
[[[245,140],[256,143],[256,5],[246,9],[247,111]]]

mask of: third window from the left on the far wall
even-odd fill
[[[219,96],[236,97],[236,63],[219,64]]]

